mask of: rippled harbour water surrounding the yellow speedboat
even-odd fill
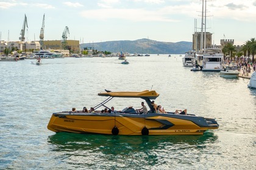
[[[179,55],[0,62],[0,169],[256,169],[256,90],[249,80],[191,72]],[[168,111],[216,118],[201,136],[55,134],[53,112],[96,106],[104,89],[156,90]],[[141,100],[110,101],[121,110]]]

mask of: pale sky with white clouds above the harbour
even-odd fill
[[[213,44],[234,39],[242,45],[256,38],[256,0],[206,4],[205,27],[213,33]],[[0,40],[19,40],[25,14],[26,41],[39,40],[45,15],[44,40],[62,39],[67,26],[68,39],[81,43],[141,38],[192,42],[194,31],[201,32],[202,0],[0,0]]]

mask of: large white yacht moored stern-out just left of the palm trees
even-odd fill
[[[203,55],[202,71],[203,72],[220,72],[222,70],[223,53],[221,49],[207,49]]]

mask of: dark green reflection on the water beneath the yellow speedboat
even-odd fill
[[[218,139],[212,132],[204,135],[158,135],[123,136],[57,133],[48,137],[52,151],[73,152],[77,150],[101,150],[104,154],[120,154],[120,151],[141,152],[148,149],[165,149],[169,146],[185,148],[204,148]]]

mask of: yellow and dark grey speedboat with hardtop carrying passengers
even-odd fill
[[[109,135],[202,135],[208,129],[218,129],[219,125],[213,118],[197,117],[196,115],[180,115],[174,112],[155,113],[151,100],[159,96],[155,90],[142,92],[106,92],[100,96],[107,100],[94,107],[95,112],[57,112],[52,114],[48,129],[54,132],[74,132],[81,134]],[[142,98],[148,104],[148,114],[140,114],[133,108],[101,113],[99,107],[114,97]],[[110,108],[108,108],[110,109]]]

